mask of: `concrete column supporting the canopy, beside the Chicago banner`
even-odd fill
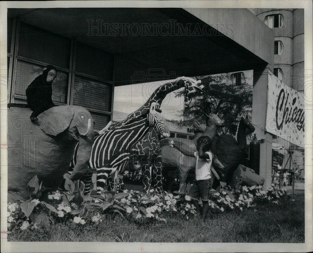
[[[268,70],[273,71],[273,66],[268,64],[253,70],[253,103],[252,124],[254,124],[258,140],[265,139],[260,144],[260,175],[264,176],[264,186],[271,186],[272,173],[272,135],[265,132]]]

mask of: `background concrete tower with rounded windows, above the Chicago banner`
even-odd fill
[[[290,88],[304,90],[304,9],[250,9],[275,34],[274,74]]]

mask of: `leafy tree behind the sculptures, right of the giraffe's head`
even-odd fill
[[[197,94],[192,102],[185,105],[185,108],[177,114],[179,117],[184,117],[184,120],[172,120],[179,126],[189,126],[194,129],[199,124],[205,124],[207,114],[213,113],[219,102],[218,116],[224,120],[225,127],[218,129],[219,134],[235,135],[237,126],[242,116],[248,115],[249,120],[252,119],[252,85],[244,82],[236,85],[233,82],[227,83],[229,76],[227,74],[207,75],[193,77],[201,79],[201,84],[204,85],[203,93]],[[176,97],[184,95],[184,91],[178,91]],[[233,101],[233,102],[229,102]]]

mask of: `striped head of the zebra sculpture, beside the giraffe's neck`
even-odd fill
[[[164,137],[170,137],[170,132],[167,126],[166,119],[159,113],[160,104],[155,102],[151,103],[150,111],[147,114],[147,119],[150,126],[152,126],[156,133],[163,135]]]

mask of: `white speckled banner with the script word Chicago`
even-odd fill
[[[304,95],[268,74],[266,131],[304,147]]]

